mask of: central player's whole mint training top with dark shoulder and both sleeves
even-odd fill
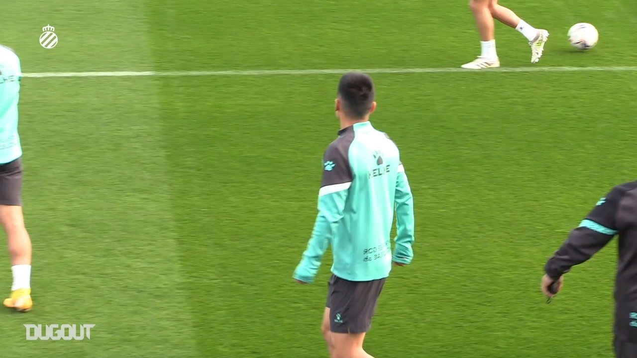
[[[294,278],[313,282],[329,245],[334,275],[350,281],[385,278],[392,260],[412,261],[413,241],[412,190],[396,144],[370,122],[341,129],[324,155],[318,216]]]

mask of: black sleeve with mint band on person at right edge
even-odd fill
[[[573,266],[590,259],[612,240],[619,231],[617,214],[624,192],[621,187],[613,188],[598,201],[580,226],[571,231],[562,247],[548,259],[545,265],[548,277],[557,280]]]

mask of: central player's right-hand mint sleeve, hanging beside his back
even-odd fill
[[[398,167],[396,178],[396,247],[394,262],[410,264],[413,259],[414,238],[413,196],[403,164]]]

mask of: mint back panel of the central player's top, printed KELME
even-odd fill
[[[333,240],[335,275],[352,281],[384,278],[391,269],[390,232],[394,220],[399,151],[369,122],[348,133],[352,173],[343,222]]]

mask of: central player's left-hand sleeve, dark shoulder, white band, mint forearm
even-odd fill
[[[318,215],[308,246],[294,270],[296,280],[306,283],[314,281],[323,255],[329,247],[334,227],[343,218],[345,201],[351,185],[352,171],[347,152],[333,143],[324,155],[323,178],[318,190]]]

